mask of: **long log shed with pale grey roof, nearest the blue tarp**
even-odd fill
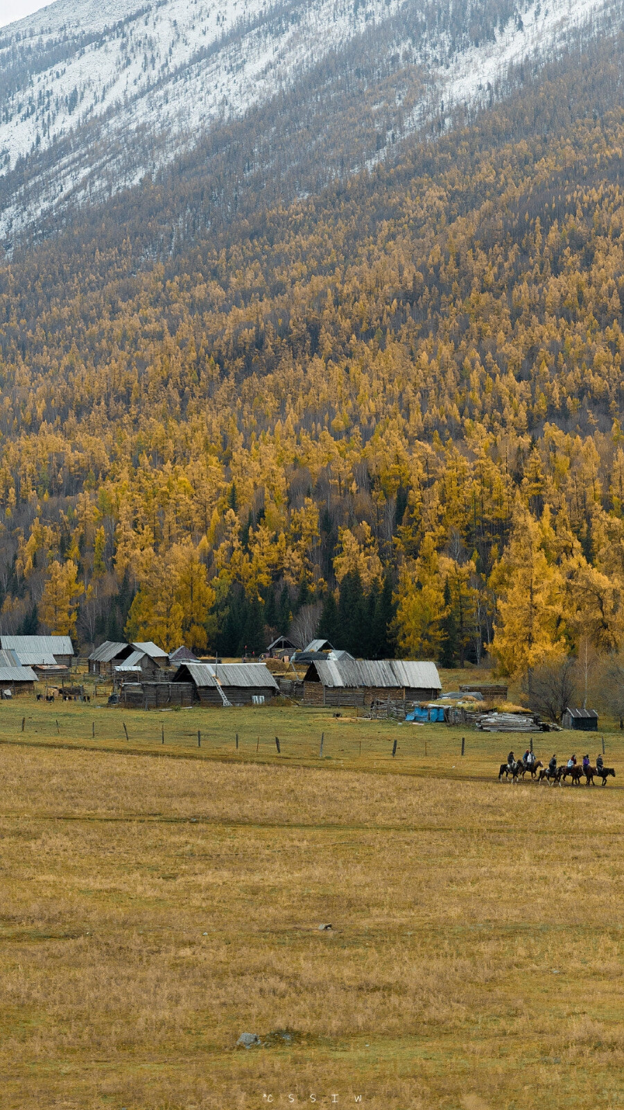
[[[303,679],[304,705],[431,702],[441,693],[435,664],[415,659],[315,659]]]

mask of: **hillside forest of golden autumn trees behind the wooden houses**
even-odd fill
[[[202,230],[193,167],[16,250],[2,629],[292,625],[514,676],[617,649],[623,47],[291,204]]]

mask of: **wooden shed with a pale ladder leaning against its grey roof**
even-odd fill
[[[263,663],[183,663],[172,683],[192,683],[201,705],[262,705],[280,693]]]

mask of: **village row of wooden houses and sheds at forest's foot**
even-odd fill
[[[480,672],[443,689],[435,663],[358,659],[326,639],[301,647],[279,636],[260,659],[198,657],[180,645],[165,652],[152,640],[104,640],[79,656],[70,636],[1,635],[0,697],[91,703],[131,709],[303,706],[355,710],[362,718],[467,725],[484,731],[550,731],[561,726],[507,705],[507,686]],[[485,672],[485,676],[490,673]],[[336,714],[340,716],[340,714]],[[563,727],[597,729],[594,709],[568,707]]]

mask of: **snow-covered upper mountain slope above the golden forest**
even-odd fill
[[[461,9],[441,0],[57,0],[0,32],[0,240],[10,245],[21,229],[70,201],[137,183],[210,129],[292,89],[323,60],[335,58],[340,69],[348,49],[356,58],[359,43],[369,71],[379,63],[381,73],[392,59],[395,74],[409,65],[412,83],[421,75],[406,111],[396,120],[391,113],[382,128],[396,127],[401,135],[422,125],[432,105],[447,115],[453,103],[483,99],[511,63],[547,58],[611,7],[608,0],[469,0]],[[335,80],[344,79],[343,72]],[[385,140],[378,142],[370,161],[384,149]]]

